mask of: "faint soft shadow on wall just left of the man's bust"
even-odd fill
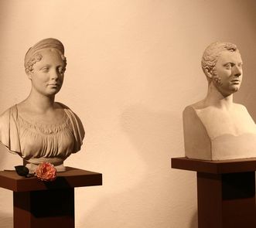
[[[148,168],[156,171],[165,167],[169,172],[172,151],[180,152],[179,148],[183,148],[181,114],[155,112],[135,105],[124,111],[121,126]]]

